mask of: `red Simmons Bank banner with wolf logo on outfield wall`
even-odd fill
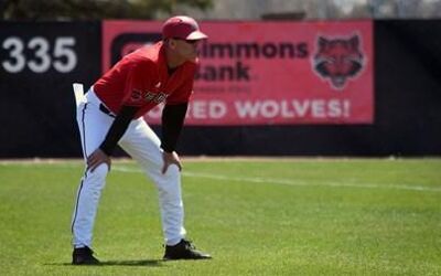
[[[373,23],[202,22],[209,39],[186,125],[373,124]],[[106,21],[103,68],[160,39],[160,22]],[[161,107],[146,115],[159,124]]]

